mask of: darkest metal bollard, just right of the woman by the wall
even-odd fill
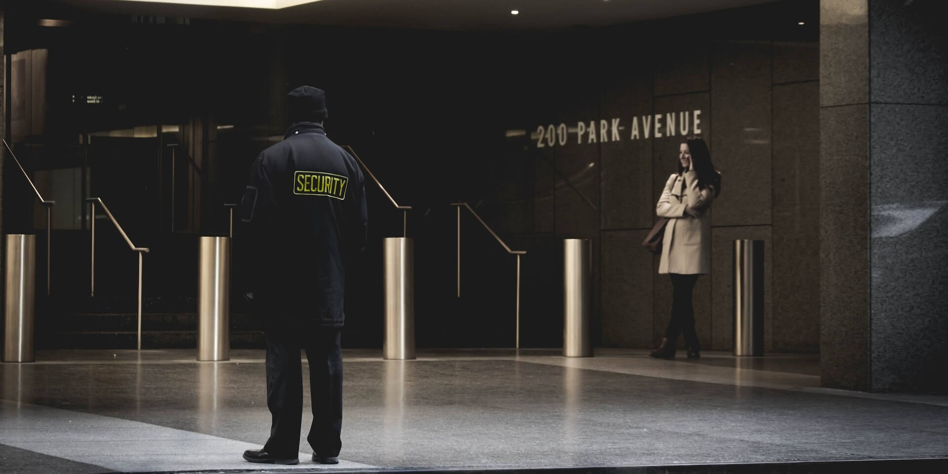
[[[734,241],[734,355],[764,355],[764,241]]]

